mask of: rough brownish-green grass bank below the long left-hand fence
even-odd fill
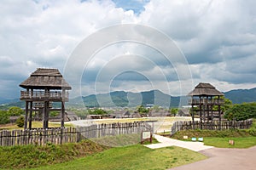
[[[70,144],[16,145],[0,147],[0,169],[42,167],[102,152],[108,147],[84,140]]]

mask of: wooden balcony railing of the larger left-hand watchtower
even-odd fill
[[[68,100],[68,92],[44,92],[44,91],[20,91],[20,99],[65,99]]]

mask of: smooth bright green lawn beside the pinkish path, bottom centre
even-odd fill
[[[166,147],[152,150],[141,144],[112,148],[93,156],[74,161],[34,169],[73,169],[73,170],[115,170],[115,169],[167,169],[206,159],[206,156],[179,147]]]

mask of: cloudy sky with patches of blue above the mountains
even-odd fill
[[[20,82],[38,67],[58,68],[72,96],[150,89],[180,95],[198,82],[221,91],[255,88],[255,6],[254,0],[2,0],[0,97],[18,98]],[[135,25],[142,27],[131,31]]]

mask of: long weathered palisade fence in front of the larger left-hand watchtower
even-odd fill
[[[141,133],[152,128],[147,122],[96,124],[89,127],[67,127],[32,130],[0,131],[0,146],[24,144],[64,144],[82,139],[101,138],[109,135]]]

